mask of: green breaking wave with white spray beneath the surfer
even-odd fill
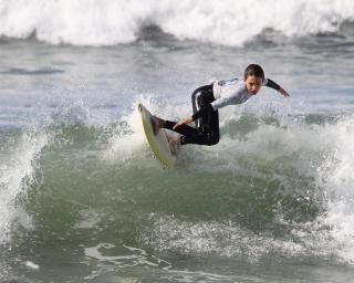
[[[144,103],[163,116],[181,112]],[[11,150],[0,167],[0,239],[9,241],[24,209],[19,195],[32,191],[28,222],[33,217],[49,230],[118,233],[160,252],[259,261],[277,251],[290,262],[352,263],[353,118],[220,119],[219,145],[186,146],[168,171],[145,146],[136,109],[106,126],[70,122],[49,125],[45,135],[9,132],[11,143],[1,144]],[[38,171],[41,182],[28,186]]]

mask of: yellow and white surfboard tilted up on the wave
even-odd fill
[[[171,168],[176,164],[176,157],[173,155],[165,129],[160,129],[156,135],[153,130],[152,114],[146,107],[139,103],[138,111],[142,116],[142,123],[147,145],[153,156],[167,168]]]

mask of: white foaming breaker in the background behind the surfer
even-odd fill
[[[146,0],[0,2],[0,35],[51,44],[115,45],[156,25],[179,40],[241,46],[264,30],[289,38],[332,33],[354,21],[351,0]]]

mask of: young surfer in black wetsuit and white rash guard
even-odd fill
[[[266,78],[264,71],[260,65],[250,64],[246,67],[242,80],[215,81],[194,91],[191,95],[194,115],[178,122],[153,116],[154,134],[156,135],[160,128],[180,134],[181,136],[174,140],[175,145],[173,146],[175,147],[186,144],[216,145],[220,139],[218,109],[227,105],[246,103],[263,85],[278,91],[284,97],[289,97],[288,92],[279,84]],[[195,122],[196,127],[187,125],[191,122]]]

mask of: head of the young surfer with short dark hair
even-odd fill
[[[249,94],[256,95],[264,81],[264,71],[258,64],[250,64],[243,74],[244,87]]]

